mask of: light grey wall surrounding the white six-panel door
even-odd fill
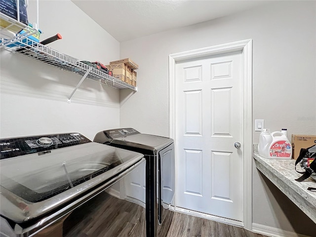
[[[121,91],[122,101],[129,98],[120,105],[120,126],[168,136],[168,55],[246,39],[253,40],[253,121],[265,119],[272,131],[285,127],[289,137],[316,134],[316,1],[271,1],[122,42],[120,58],[131,57],[139,64],[139,92],[130,96]],[[259,132],[253,132],[253,143],[258,140]],[[315,235],[315,223],[295,208],[253,167],[253,223]]]

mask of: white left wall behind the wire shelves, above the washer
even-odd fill
[[[36,1],[29,1],[29,21],[36,21]],[[79,60],[107,64],[119,58],[119,42],[72,1],[40,0],[40,40],[60,33],[48,44]],[[18,54],[1,50],[0,137],[96,132],[119,126],[119,90],[86,79],[67,103],[81,79]]]

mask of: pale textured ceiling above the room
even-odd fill
[[[267,0],[72,0],[122,42],[258,7]]]

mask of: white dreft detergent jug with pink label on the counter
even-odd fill
[[[291,159],[292,145],[283,132],[271,133],[272,142],[269,146],[269,157],[273,159]]]

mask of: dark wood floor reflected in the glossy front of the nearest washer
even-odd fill
[[[145,208],[103,192],[70,214],[63,237],[145,237],[145,223]]]

